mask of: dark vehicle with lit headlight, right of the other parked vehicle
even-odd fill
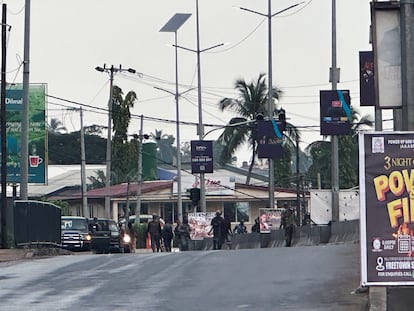
[[[89,230],[92,233],[91,249],[97,254],[119,253],[121,233],[113,219],[89,218]]]

